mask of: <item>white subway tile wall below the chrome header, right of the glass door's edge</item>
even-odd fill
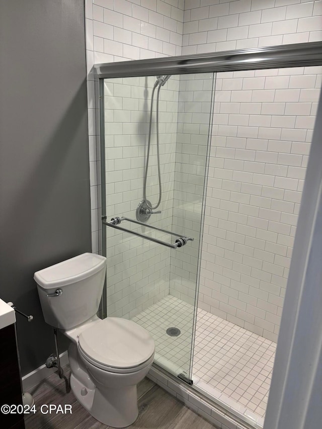
[[[321,72],[216,76],[198,306],[273,341]]]

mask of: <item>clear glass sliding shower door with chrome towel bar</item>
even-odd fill
[[[213,77],[101,82],[107,316],[144,326],[155,362],[188,382]]]

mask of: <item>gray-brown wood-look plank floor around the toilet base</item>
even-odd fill
[[[52,374],[32,389],[37,412],[25,415],[26,429],[105,429],[80,405],[69,390],[70,370],[64,368],[66,379]],[[136,429],[213,429],[214,426],[187,408],[182,402],[145,378],[137,387],[139,415],[128,427]],[[72,414],[42,414],[42,404],[70,404]]]

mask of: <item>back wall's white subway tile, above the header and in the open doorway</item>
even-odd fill
[[[321,40],[321,13],[321,1],[186,0],[182,54]],[[321,71],[216,76],[198,306],[273,341]]]

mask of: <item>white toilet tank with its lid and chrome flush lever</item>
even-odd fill
[[[46,323],[71,329],[93,317],[99,308],[106,258],[83,253],[34,274]],[[61,295],[55,295],[60,289]],[[53,294],[54,296],[47,296]]]

